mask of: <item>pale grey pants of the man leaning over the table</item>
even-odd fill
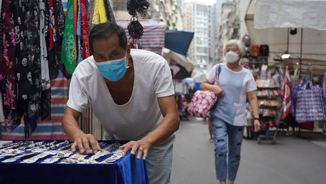
[[[115,138],[105,132],[103,140],[114,141]],[[149,150],[146,166],[150,184],[170,184],[174,140],[175,134],[166,142]]]

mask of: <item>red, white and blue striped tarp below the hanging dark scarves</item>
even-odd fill
[[[37,128],[32,132],[29,139],[67,139],[62,131],[61,122],[67,107],[68,100],[68,81],[59,72],[59,76],[51,80],[51,112],[50,121],[37,120]],[[19,140],[25,139],[24,121],[15,128],[11,133],[7,133],[4,129],[5,123],[1,123],[1,139]]]

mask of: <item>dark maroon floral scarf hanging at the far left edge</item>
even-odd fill
[[[3,0],[3,58],[0,61],[0,82],[6,77],[6,88],[3,93],[4,109],[17,108],[17,84],[16,84],[16,39],[13,15],[11,12],[11,1]],[[5,112],[5,114],[7,114]]]

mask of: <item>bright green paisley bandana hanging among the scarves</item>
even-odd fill
[[[67,72],[72,75],[76,68],[75,66],[75,39],[74,39],[74,20],[73,20],[73,0],[68,1],[67,8],[67,17],[66,17],[66,26],[64,37],[62,41],[62,50],[61,50],[61,61],[65,65]]]

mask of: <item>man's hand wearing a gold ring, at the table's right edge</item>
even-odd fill
[[[131,155],[135,155],[136,152],[138,151],[137,154],[137,159],[141,159],[141,155],[143,155],[143,160],[146,160],[148,151],[152,147],[151,143],[145,140],[139,140],[139,141],[130,141],[119,148],[123,150],[122,155],[126,155],[129,150],[131,150]]]

